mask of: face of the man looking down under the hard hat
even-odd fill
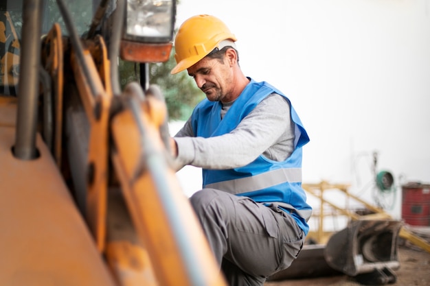
[[[232,69],[225,57],[223,62],[215,58],[203,58],[188,68],[188,75],[194,78],[197,86],[211,102],[229,102]]]

